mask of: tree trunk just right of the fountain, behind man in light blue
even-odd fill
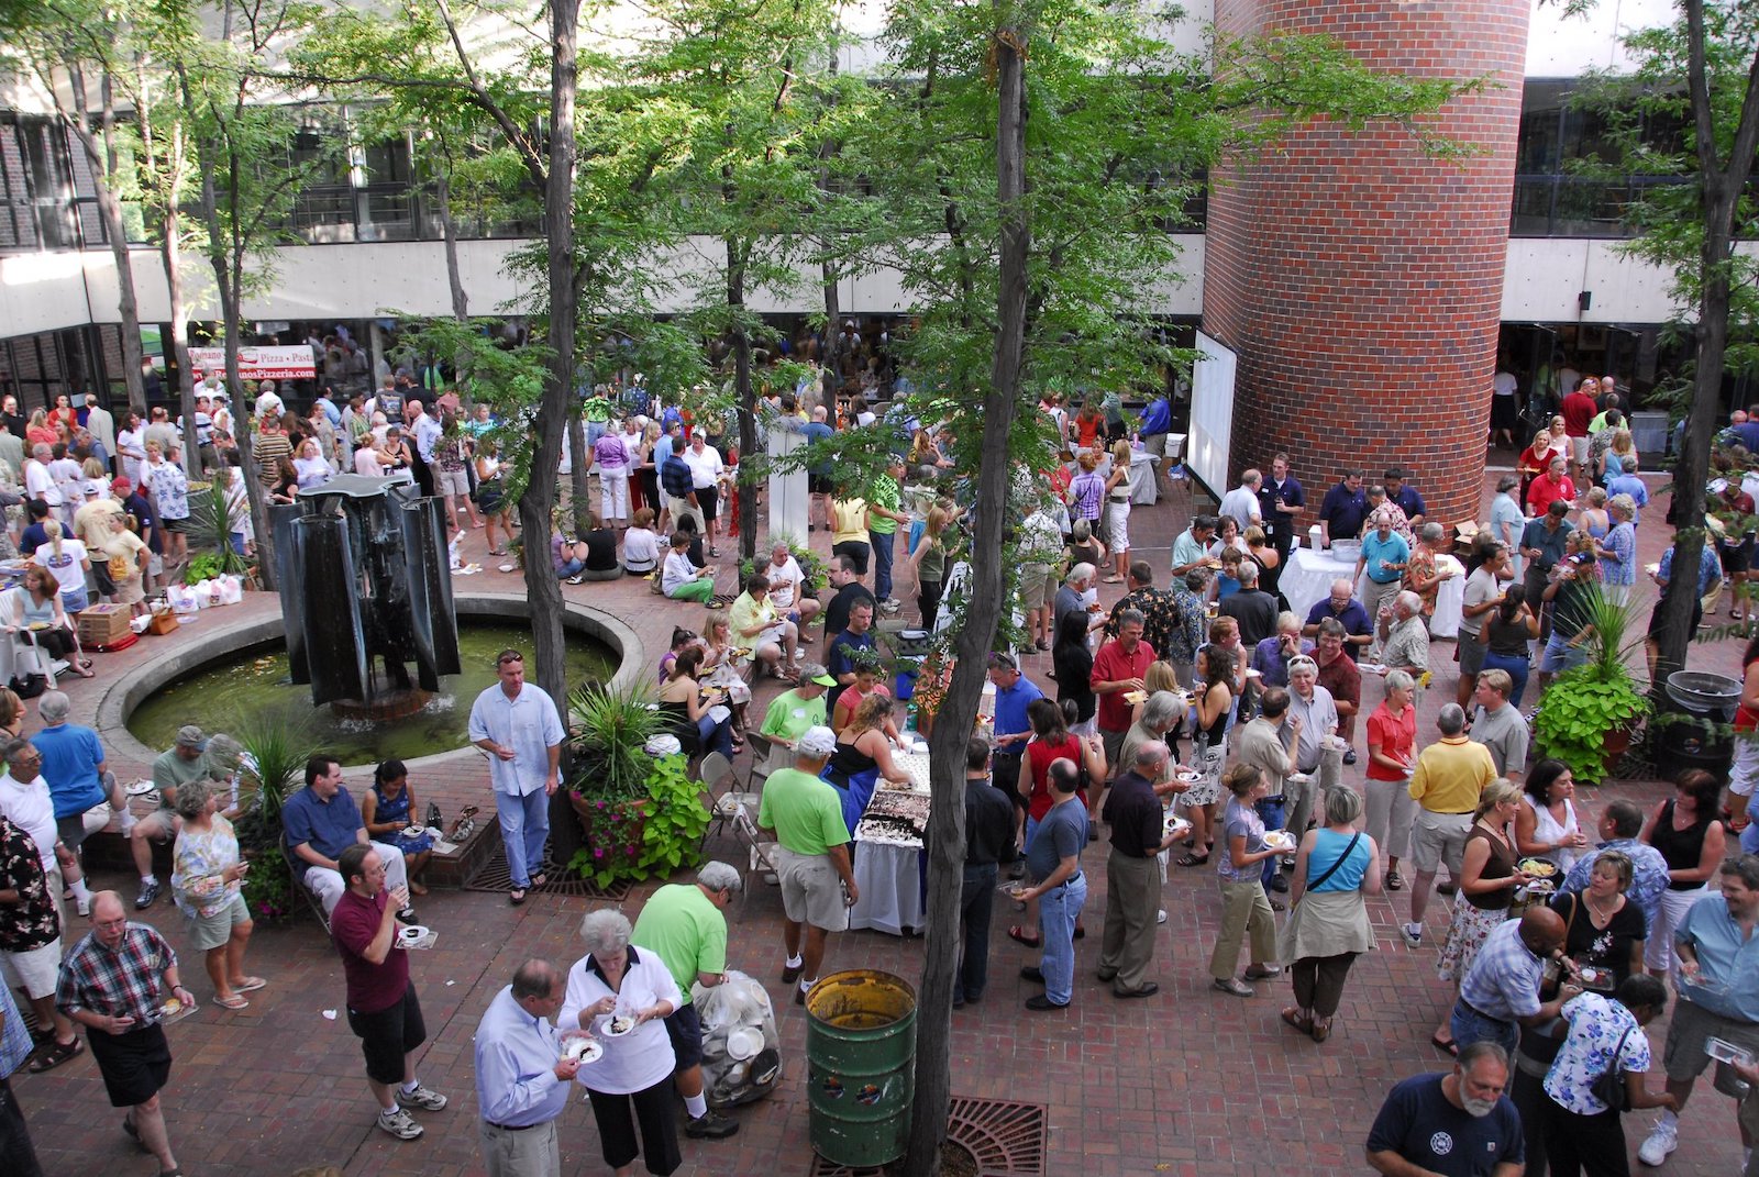
[[[575,37],[579,32],[579,0],[551,0],[551,132],[549,167],[544,190],[545,238],[549,243],[549,347],[551,369],[538,401],[536,454],[531,457],[531,479],[519,498],[519,521],[524,526],[526,598],[531,602],[531,640],[536,646],[538,686],[549,691],[558,707],[568,705],[568,677],[563,667],[561,584],[551,572],[551,507],[556,503],[556,466],[561,463],[561,436],[568,426],[568,403],[573,396],[573,317],[575,317],[575,259],[573,259],[573,167],[575,127],[573,107],[579,86]],[[584,463],[586,454],[575,454]],[[566,862],[579,837],[573,811],[565,790],[551,797],[551,857]]]

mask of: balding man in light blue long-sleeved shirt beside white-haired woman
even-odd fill
[[[566,992],[561,969],[526,961],[477,1022],[477,1140],[489,1177],[561,1177],[556,1119],[580,1070],[551,1020]]]

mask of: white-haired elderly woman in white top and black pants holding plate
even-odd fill
[[[658,952],[630,945],[630,922],[621,911],[589,911],[580,920],[580,939],[586,955],[568,969],[556,1026],[580,1027],[603,1047],[600,1057],[580,1064],[575,1080],[593,1105],[605,1163],[617,1177],[630,1177],[635,1158],[646,1156],[647,1172],[663,1177],[682,1163],[672,1110],[675,1056],[665,1019],[684,998]]]

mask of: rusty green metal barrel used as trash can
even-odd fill
[[[878,969],[830,973],[806,996],[807,1131],[834,1165],[904,1156],[916,1087],[916,991]]]

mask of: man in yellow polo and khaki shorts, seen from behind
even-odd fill
[[[1411,922],[1400,931],[1405,943],[1418,948],[1423,943],[1423,913],[1428,910],[1430,888],[1435,885],[1435,867],[1448,864],[1448,876],[1458,885],[1460,859],[1465,855],[1465,836],[1472,829],[1472,809],[1485,785],[1497,779],[1497,764],[1490,749],[1474,744],[1465,735],[1465,709],[1448,704],[1435,716],[1441,741],[1418,753],[1418,767],[1411,774],[1411,797],[1418,802],[1418,818],[1411,829],[1411,859],[1416,862],[1416,881],[1411,883]]]

